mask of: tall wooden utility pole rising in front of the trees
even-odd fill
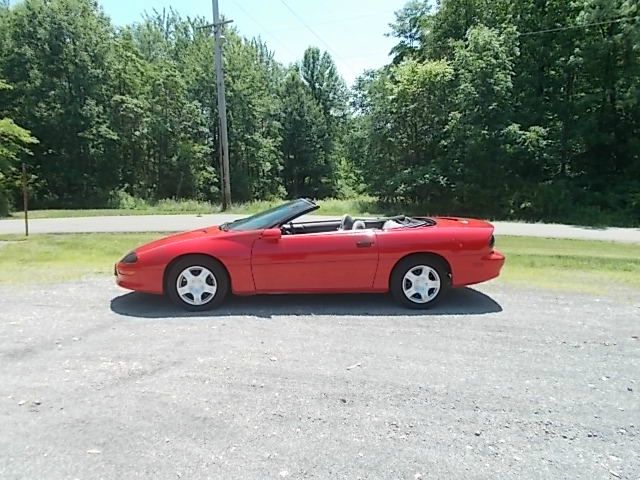
[[[222,27],[233,20],[220,21],[218,0],[212,0],[213,33],[215,38],[216,91],[218,94],[218,116],[220,126],[220,156],[222,173],[222,210],[231,207],[231,178],[229,176],[229,139],[227,137],[227,100],[224,92],[224,72],[222,69]]]

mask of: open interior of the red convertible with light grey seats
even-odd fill
[[[430,218],[412,218],[405,215],[384,218],[353,218],[343,215],[341,220],[318,220],[313,222],[288,222],[280,228],[283,235],[302,235],[305,233],[344,232],[348,230],[392,230],[403,227],[422,227],[434,225]]]

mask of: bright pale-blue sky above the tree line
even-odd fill
[[[364,70],[389,63],[385,36],[406,0],[219,0],[220,14],[245,37],[260,36],[278,61],[300,60],[314,45],[327,50],[348,85]],[[14,3],[14,2],[12,2]],[[99,0],[115,25],[172,7],[184,16],[212,18],[208,0]],[[287,6],[289,8],[287,8]],[[295,13],[295,14],[294,14]]]

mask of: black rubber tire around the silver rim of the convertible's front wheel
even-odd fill
[[[197,273],[199,269],[206,269],[213,276],[212,280],[204,270],[202,270],[202,273],[200,274],[203,275],[203,282],[205,282],[209,288],[211,288],[213,282],[215,282],[216,287],[215,293],[200,292],[199,300],[204,302],[200,305],[188,303],[188,301],[185,301],[178,292],[178,277],[180,277],[187,269],[193,269],[192,271],[190,270],[192,274],[194,272]],[[184,282],[188,282],[188,280],[183,277],[181,283]],[[207,257],[206,255],[189,255],[176,261],[167,271],[165,276],[165,292],[173,303],[185,310],[191,312],[211,310],[219,306],[229,293],[229,275],[227,274],[226,269],[217,260]],[[187,294],[186,298],[188,300],[191,299],[192,301],[195,301],[193,294]]]

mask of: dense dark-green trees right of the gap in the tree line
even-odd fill
[[[640,4],[428,4],[397,13],[393,64],[357,85],[370,192],[439,211],[640,223]]]

